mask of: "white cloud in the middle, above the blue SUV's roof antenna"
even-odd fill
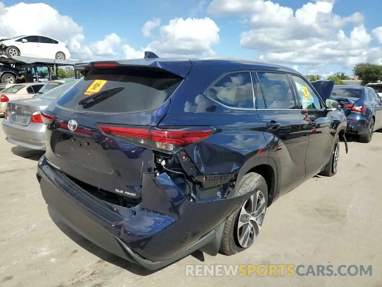
[[[144,27],[153,27],[151,24],[146,24]],[[219,31],[217,24],[208,17],[175,18],[167,25],[160,26],[156,34],[150,29],[150,35],[155,39],[146,48],[135,51],[129,45],[125,45],[123,51],[126,59],[142,55],[144,51],[152,51],[160,57],[214,56],[212,46],[219,44]]]

